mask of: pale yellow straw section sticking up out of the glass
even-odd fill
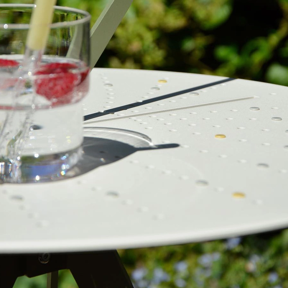
[[[46,46],[56,0],[36,0],[32,11],[27,48],[43,50]]]

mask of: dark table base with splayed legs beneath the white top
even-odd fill
[[[70,269],[79,288],[133,288],[117,251],[90,253],[0,255],[0,287],[12,288],[22,275],[51,273],[49,288],[57,288],[55,271]]]

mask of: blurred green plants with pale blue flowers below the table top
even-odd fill
[[[135,288],[287,288],[288,230],[202,243],[120,250]],[[46,276],[14,288],[45,288]],[[77,288],[68,270],[59,288]]]

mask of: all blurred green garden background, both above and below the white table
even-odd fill
[[[106,1],[57,4],[87,10],[94,23]],[[288,85],[288,0],[134,0],[96,66]],[[288,288],[288,230],[119,254],[135,288]],[[45,276],[15,284],[44,287]],[[60,271],[59,288],[76,287],[70,272]]]

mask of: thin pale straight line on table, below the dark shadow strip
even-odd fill
[[[111,121],[111,120],[116,120],[116,119],[123,119],[123,118],[129,118],[129,117],[137,117],[137,116],[157,114],[157,113],[164,113],[164,112],[169,112],[169,111],[176,111],[176,110],[182,110],[182,109],[202,107],[202,106],[208,106],[208,105],[214,105],[214,104],[222,104],[222,103],[227,103],[227,102],[236,102],[236,101],[248,100],[248,99],[254,99],[254,98],[259,98],[259,96],[249,96],[249,97],[235,98],[235,99],[230,99],[230,100],[209,102],[209,103],[196,104],[196,105],[190,105],[190,106],[184,106],[184,107],[175,107],[175,108],[163,109],[163,110],[158,110],[158,111],[151,111],[151,112],[146,112],[146,113],[129,114],[129,115],[125,115],[125,116],[119,116],[119,117],[113,117],[113,118],[107,118],[107,119],[99,119],[99,120],[93,120],[93,121],[89,121],[89,122],[86,121],[84,124],[90,124],[90,123],[96,123],[96,122],[104,122],[104,121]]]

